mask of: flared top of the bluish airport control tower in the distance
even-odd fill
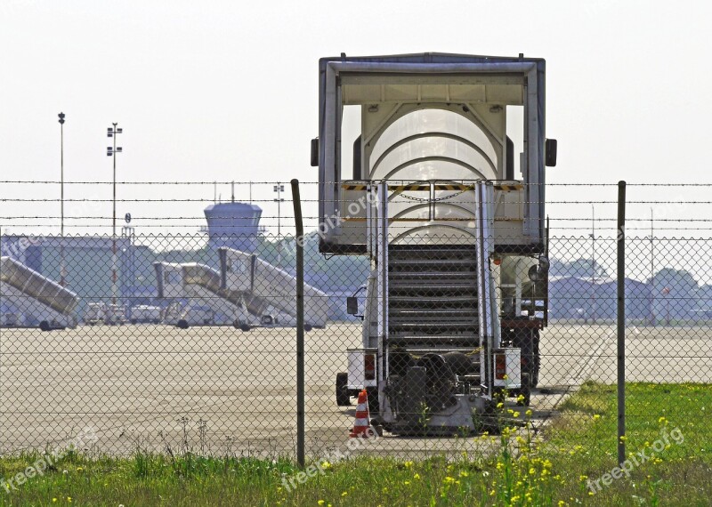
[[[208,245],[217,249],[227,246],[242,252],[253,252],[260,233],[262,208],[258,205],[230,202],[206,207]]]

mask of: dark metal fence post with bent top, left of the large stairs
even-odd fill
[[[292,180],[296,228],[296,463],[304,466],[304,226],[299,180]],[[279,239],[279,238],[278,238]]]

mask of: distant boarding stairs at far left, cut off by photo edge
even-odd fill
[[[9,256],[0,258],[0,294],[3,326],[39,326],[43,331],[77,326],[77,294]]]

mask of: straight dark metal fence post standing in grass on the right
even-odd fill
[[[626,461],[626,182],[618,183],[618,463]]]

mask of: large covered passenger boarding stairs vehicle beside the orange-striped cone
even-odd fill
[[[363,313],[356,294],[347,301],[362,344],[346,351],[338,405],[366,389],[374,422],[408,434],[475,431],[504,393],[529,403],[556,148],[544,76],[544,60],[522,56],[320,60],[320,252],[368,255],[372,268]],[[343,139],[347,117],[360,117],[355,140]]]

